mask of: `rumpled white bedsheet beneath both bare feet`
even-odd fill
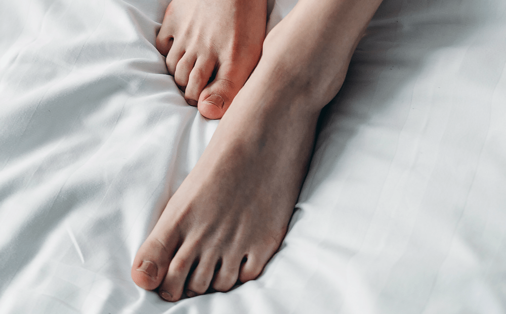
[[[385,0],[262,276],[177,303],[138,288],[218,124],[153,46],[167,3],[0,0],[1,313],[506,312],[503,0]]]

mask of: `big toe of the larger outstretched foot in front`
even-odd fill
[[[156,289],[165,277],[169,263],[170,255],[161,242],[148,238],[134,259],[132,279],[141,288]]]

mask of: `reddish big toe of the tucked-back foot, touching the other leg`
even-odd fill
[[[207,85],[198,100],[198,111],[207,119],[221,119],[237,92],[246,82],[247,74],[238,75],[222,65],[213,82]]]

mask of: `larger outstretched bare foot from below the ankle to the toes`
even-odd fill
[[[263,114],[246,86],[135,257],[134,282],[167,301],[256,279],[284,238],[318,114]]]

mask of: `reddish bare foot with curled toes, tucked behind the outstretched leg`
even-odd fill
[[[262,53],[266,0],[173,0],[156,48],[168,72],[208,119],[220,119]]]

